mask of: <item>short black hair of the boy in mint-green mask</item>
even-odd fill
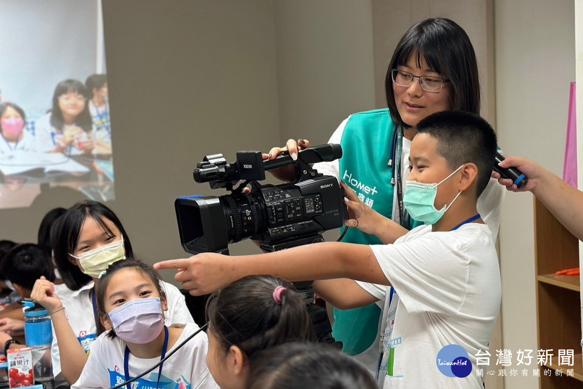
[[[417,134],[437,139],[437,153],[451,169],[464,163],[477,166],[476,197],[486,189],[496,158],[496,134],[479,115],[466,111],[443,111],[429,115],[417,124]]]

